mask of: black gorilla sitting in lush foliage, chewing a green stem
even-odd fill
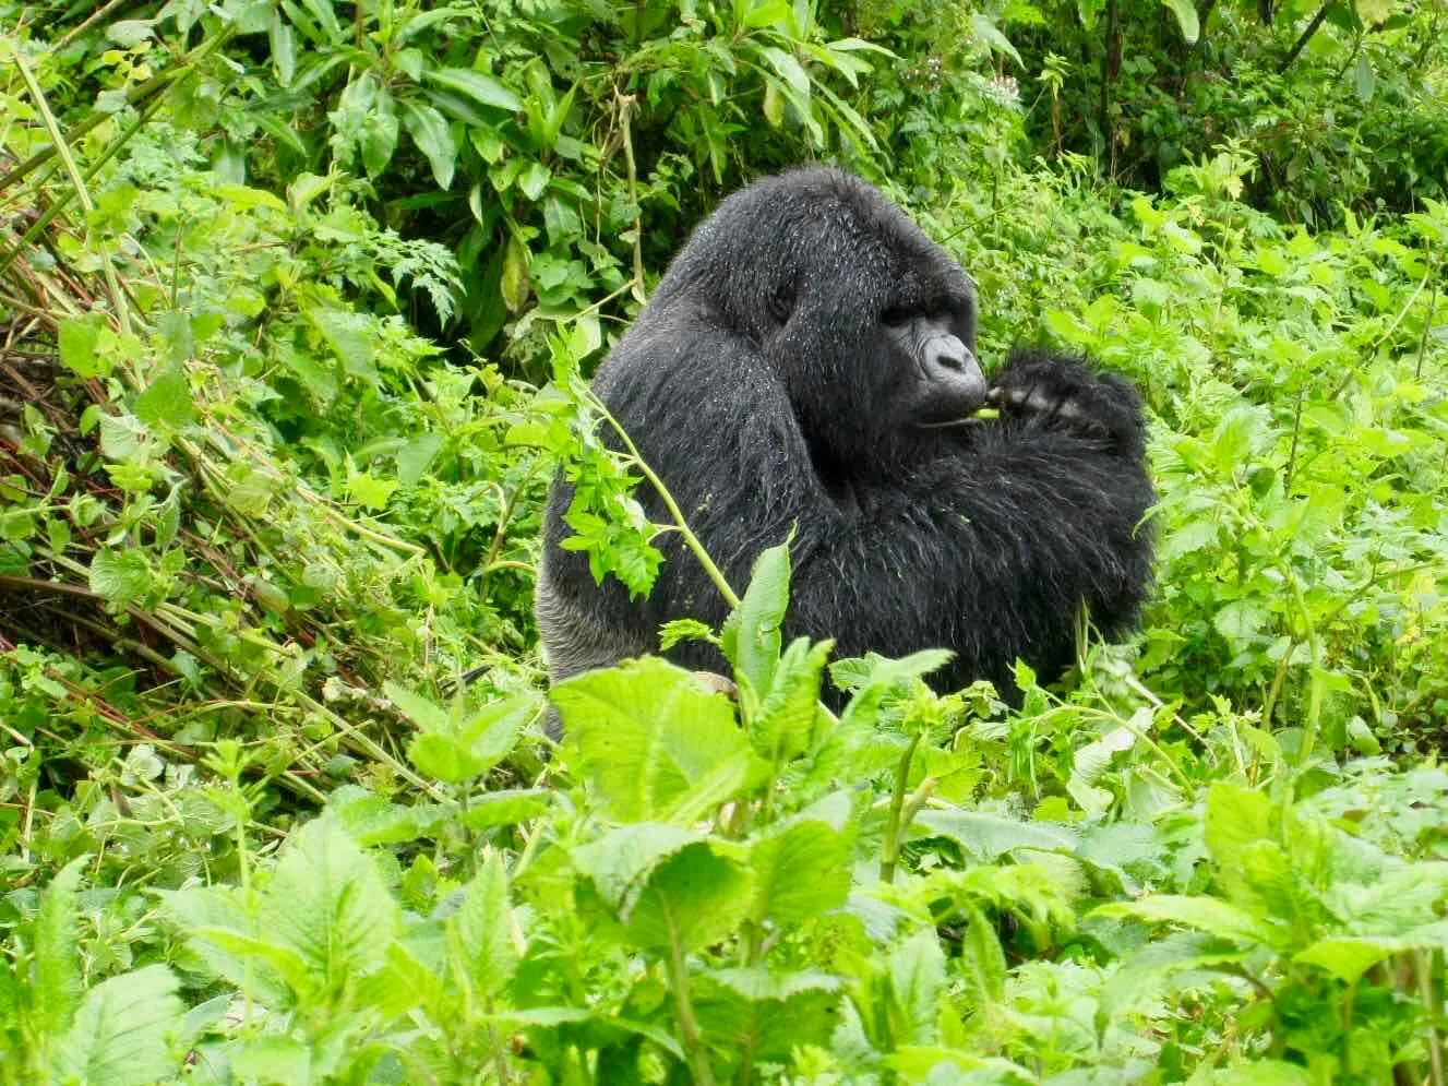
[[[698,227],[594,388],[737,591],[795,529],[788,636],[953,649],[938,688],[1009,695],[1015,657],[1043,681],[1072,663],[1082,602],[1106,636],[1134,621],[1153,491],[1127,382],[1025,352],[988,392],[973,348],[960,266],[863,181],[811,168]],[[988,400],[999,421],[960,424]],[[555,681],[656,652],[670,618],[724,618],[676,533],[647,601],[597,585],[559,547],[571,497],[555,484],[537,591]],[[708,644],[670,656],[723,666]]]

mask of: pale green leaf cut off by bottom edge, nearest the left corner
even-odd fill
[[[184,1012],[177,979],[146,966],[85,993],[56,1058],[56,1082],[145,1086],[181,1073],[172,1035]]]

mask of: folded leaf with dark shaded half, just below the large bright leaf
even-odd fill
[[[734,933],[750,902],[738,847],[659,822],[626,825],[573,853],[636,947],[698,950]]]

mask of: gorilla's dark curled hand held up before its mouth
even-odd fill
[[[1005,420],[1035,421],[1137,456],[1145,445],[1141,397],[1127,381],[1082,362],[1034,350],[1012,352],[988,394]]]

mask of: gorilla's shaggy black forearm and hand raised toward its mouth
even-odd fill
[[[943,689],[989,678],[1009,692],[1018,656],[1043,682],[1072,663],[1082,604],[1106,636],[1132,624],[1154,500],[1140,401],[1089,375],[1058,397],[1085,371],[1040,366],[1054,384],[1025,361],[1008,369],[999,423],[969,427],[899,482],[856,489],[857,510],[799,517],[796,631],[834,636],[841,654],[950,647]],[[1032,375],[1034,403],[1016,379]]]

